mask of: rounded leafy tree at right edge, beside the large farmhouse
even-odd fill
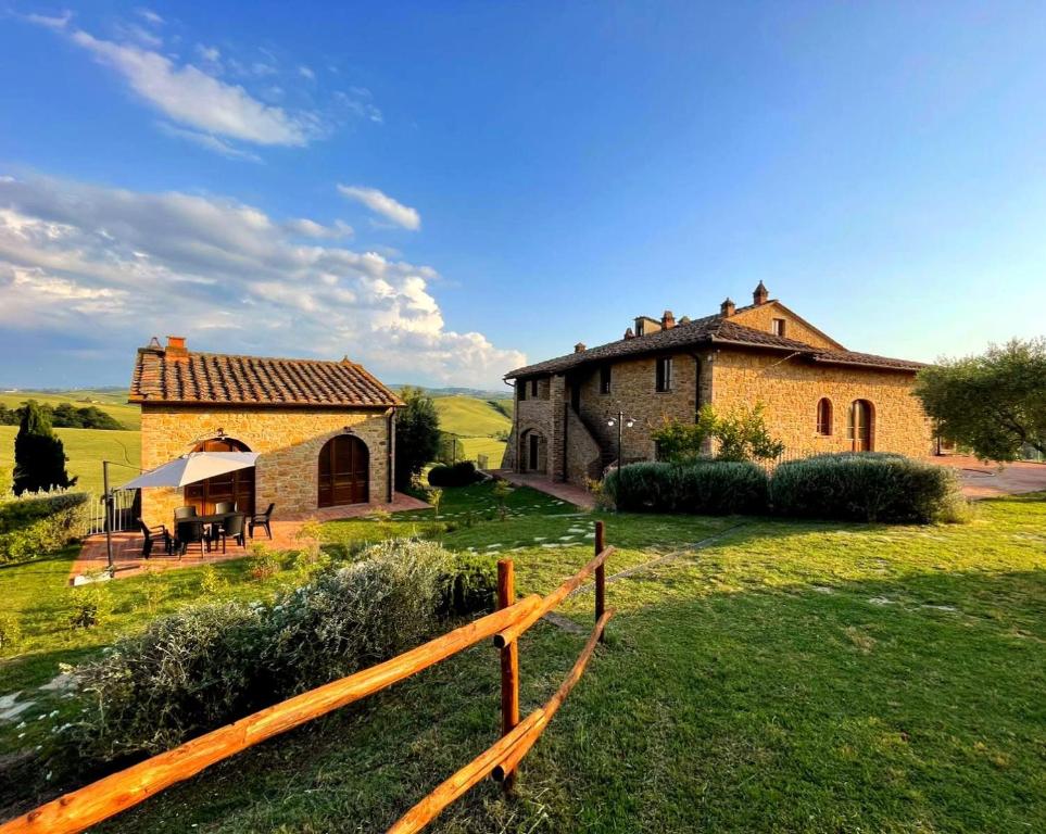
[[[1016,460],[1024,444],[1046,454],[1046,339],[923,368],[916,394],[937,432],[982,460]]]

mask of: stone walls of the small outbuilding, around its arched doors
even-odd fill
[[[252,452],[255,507],[270,502],[277,515],[307,513],[318,503],[319,451],[349,426],[370,453],[370,502],[388,501],[388,412],[375,409],[207,408],[149,405],[141,407],[143,469],[191,452],[193,442],[223,429]],[[393,430],[394,433],[394,430]],[[149,525],[171,523],[174,508],[185,504],[181,490],[142,490],[142,517]]]

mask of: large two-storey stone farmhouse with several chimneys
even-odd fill
[[[931,454],[931,426],[912,394],[918,362],[846,350],[759,282],[753,303],[727,299],[703,318],[640,316],[625,338],[505,375],[515,417],[504,468],[583,484],[617,459],[653,460],[652,432],[761,403],[787,457],[822,452]],[[629,426],[628,424],[631,424]],[[711,451],[709,448],[709,451]]]

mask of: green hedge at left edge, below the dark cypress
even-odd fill
[[[60,551],[87,532],[87,495],[63,492],[0,503],[0,563]]]

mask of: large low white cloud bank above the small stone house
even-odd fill
[[[218,197],[0,180],[0,326],[85,350],[184,330],[212,351],[349,354],[391,381],[492,386],[526,364],[446,328],[434,269],[338,245],[349,233]]]

